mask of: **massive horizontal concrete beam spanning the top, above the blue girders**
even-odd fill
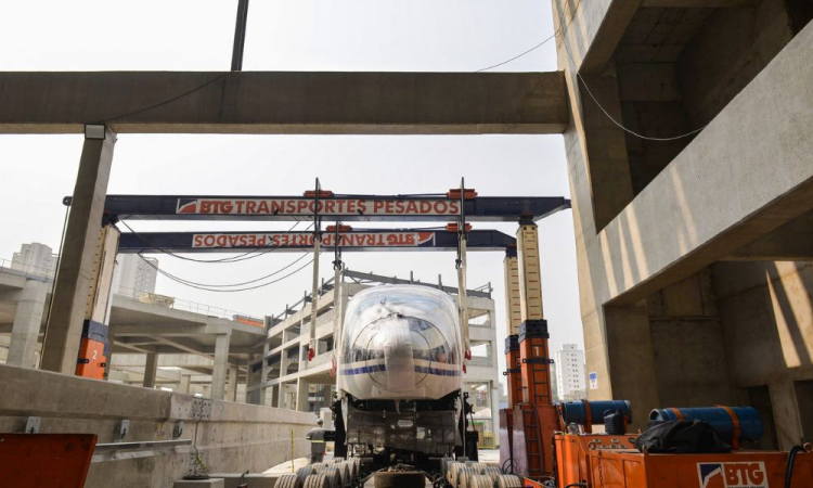
[[[98,121],[144,133],[560,133],[568,123],[562,73],[0,73],[0,133]]]

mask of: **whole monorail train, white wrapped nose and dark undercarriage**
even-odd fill
[[[384,285],[356,294],[338,345],[337,454],[461,455],[462,344],[457,307],[440,290]]]

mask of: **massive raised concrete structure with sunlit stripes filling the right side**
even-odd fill
[[[750,403],[763,447],[799,444],[813,435],[800,413],[813,380],[809,2],[553,4],[591,398],[632,400],[636,426],[654,407]]]

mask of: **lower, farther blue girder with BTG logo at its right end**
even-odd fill
[[[324,232],[322,247],[334,248],[337,234]],[[343,252],[371,251],[456,251],[457,233],[437,229],[353,229],[338,233]],[[516,247],[516,239],[495,230],[467,233],[467,248],[505,251]],[[133,253],[242,253],[308,251],[313,232],[122,232],[118,252]]]

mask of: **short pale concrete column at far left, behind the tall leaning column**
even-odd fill
[[[42,312],[46,307],[48,285],[27,280],[17,301],[17,312],[11,329],[9,357],[5,363],[22,368],[37,368],[36,350]]]

